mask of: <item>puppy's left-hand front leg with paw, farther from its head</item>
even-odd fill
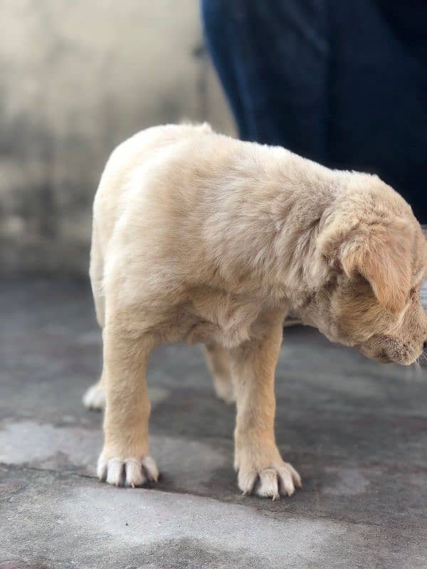
[[[157,482],[159,471],[149,456],[150,404],[145,370],[153,341],[135,339],[118,326],[106,326],[104,340],[105,442],[97,474],[116,486]]]

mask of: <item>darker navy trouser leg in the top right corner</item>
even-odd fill
[[[427,223],[427,4],[330,1],[330,164],[378,174]]]

